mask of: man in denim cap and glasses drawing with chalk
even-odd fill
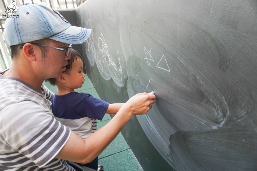
[[[53,117],[53,93],[43,81],[61,75],[71,58],[70,44],[84,42],[91,30],[71,26],[43,5],[23,5],[16,14],[4,30],[12,64],[0,73],[0,170],[91,170],[75,162],[96,158],[133,115],[148,112],[155,96],[131,97],[84,141]]]

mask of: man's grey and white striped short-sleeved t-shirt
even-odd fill
[[[3,73],[3,72],[2,72]],[[51,112],[53,93],[0,72],[0,170],[72,170],[54,158],[71,130]]]

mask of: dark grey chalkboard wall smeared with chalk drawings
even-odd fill
[[[156,95],[122,131],[144,170],[257,170],[256,0],[87,0],[76,13],[101,99]]]

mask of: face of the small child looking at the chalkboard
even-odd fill
[[[70,74],[65,74],[67,86],[71,89],[81,88],[85,81],[83,73],[83,62],[81,59],[74,60]]]

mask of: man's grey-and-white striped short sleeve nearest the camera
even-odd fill
[[[39,167],[59,153],[71,134],[49,109],[32,101],[8,105],[0,114],[2,145],[6,150],[18,151],[27,162],[32,161]]]

